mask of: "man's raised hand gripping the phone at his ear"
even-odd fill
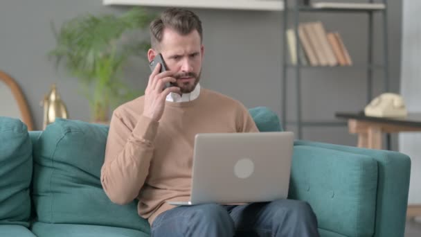
[[[143,116],[147,116],[154,121],[159,121],[165,107],[165,99],[171,92],[180,93],[179,87],[165,87],[167,83],[176,82],[171,71],[161,71],[161,63],[156,64],[147,82],[145,89],[145,105]]]

